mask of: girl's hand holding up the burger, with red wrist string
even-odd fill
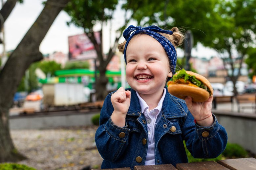
[[[209,99],[204,102],[193,102],[192,98],[189,96],[185,99],[188,110],[200,126],[211,126],[213,124],[211,112],[212,100],[213,96],[210,96]]]

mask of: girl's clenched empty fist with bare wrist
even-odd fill
[[[112,122],[119,127],[124,127],[125,117],[131,102],[131,91],[125,91],[123,87],[120,87],[112,94],[111,102],[114,107],[114,112],[111,115]]]

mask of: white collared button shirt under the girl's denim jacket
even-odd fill
[[[139,93],[136,91],[136,94],[139,98],[141,112],[144,114],[144,116],[146,118],[147,128],[148,128],[148,150],[147,150],[145,165],[155,165],[155,124],[156,124],[157,116],[159,115],[159,113],[162,109],[165,93],[166,93],[166,89],[164,88],[163,96],[160,99],[157,107],[155,109],[148,110],[149,106],[139,96]]]

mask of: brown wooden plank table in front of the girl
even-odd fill
[[[255,158],[227,159],[218,162],[178,163],[176,168],[172,164],[135,166],[134,170],[256,170]],[[93,169],[99,170],[99,169]],[[105,170],[131,170],[130,168],[114,168]]]

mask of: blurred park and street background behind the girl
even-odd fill
[[[214,89],[213,109],[218,120],[226,128],[234,118],[240,128],[237,131],[241,134],[247,131],[245,136],[240,136],[241,140],[237,140],[236,130],[230,126],[227,130],[229,141],[242,145],[252,155],[256,153],[253,132],[256,128],[256,1],[1,2],[0,125],[5,130],[0,131],[0,136],[6,141],[2,148],[9,148],[0,153],[1,162],[20,160],[12,153],[15,146],[28,157],[28,149],[21,148],[33,136],[30,141],[50,140],[59,144],[62,141],[63,145],[77,142],[76,146],[88,140],[86,146],[80,146],[75,152],[74,149],[61,151],[66,155],[65,159],[72,159],[68,163],[53,163],[54,159],[63,160],[64,157],[52,151],[55,155],[52,154],[53,162],[48,163],[48,169],[81,169],[100,164],[93,136],[97,125],[92,119],[99,114],[109,92],[120,86],[129,87],[125,80],[123,54],[118,52],[117,44],[124,41],[122,32],[131,24],[157,25],[164,29],[176,26],[182,31],[185,40],[177,48],[177,70],[191,70],[210,81]],[[9,123],[4,123],[6,120]],[[67,136],[54,140],[59,133],[55,130],[60,127],[76,127],[73,129],[76,136],[62,129],[65,131],[63,136]],[[41,131],[41,134],[35,132],[36,129],[54,129],[54,135],[45,139],[43,137],[48,136],[46,132],[49,131]],[[28,136],[22,138],[15,134]],[[84,136],[86,139],[82,138]],[[245,138],[251,142],[246,143]],[[47,146],[44,144],[41,148]],[[93,156],[74,161],[78,159],[74,155],[79,155],[79,151],[85,153],[85,148],[89,148],[87,156],[95,154],[96,162],[90,160]],[[47,154],[51,153],[47,151]],[[29,153],[40,154],[42,151],[31,144]],[[42,160],[49,155],[39,159],[41,164],[32,160],[33,157],[25,164],[46,168]]]

